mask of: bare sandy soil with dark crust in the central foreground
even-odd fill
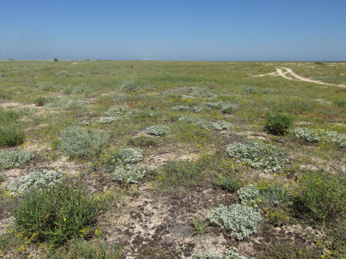
[[[108,244],[123,246],[127,259],[184,258],[195,251],[224,250],[229,244],[217,228],[202,236],[193,233],[191,220],[202,221],[218,202],[229,205],[231,194],[211,184],[158,194],[149,186],[144,184],[125,200],[121,213],[104,217]]]

